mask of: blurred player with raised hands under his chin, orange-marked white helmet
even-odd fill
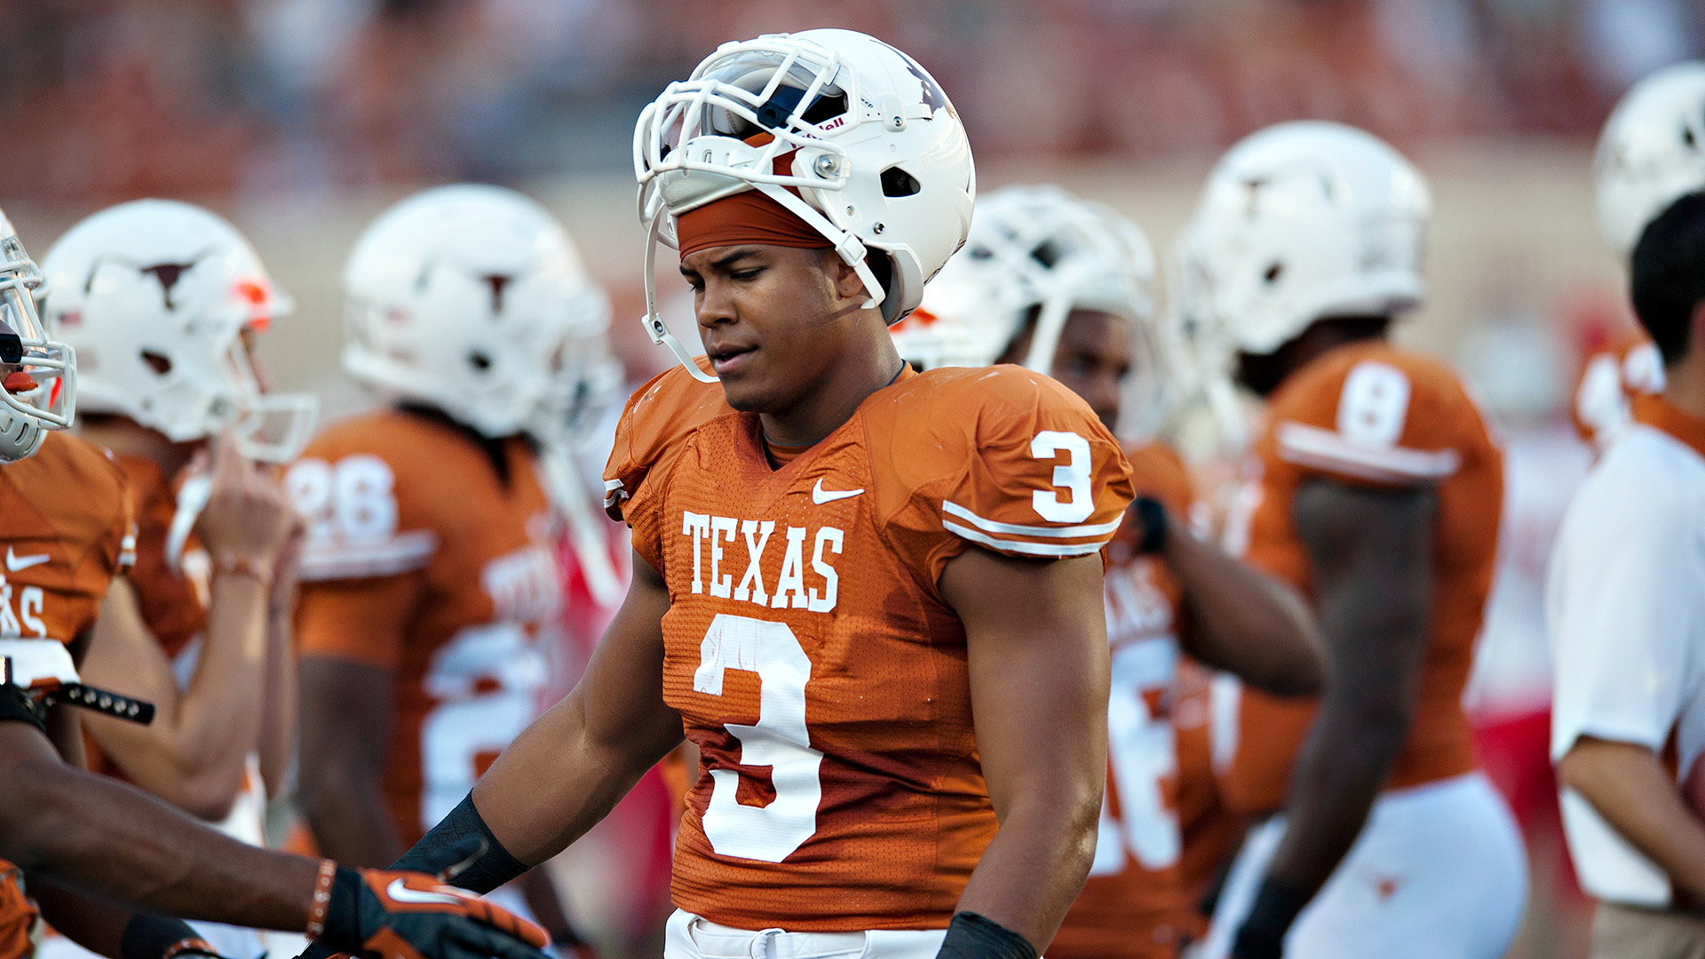
[[[290,300],[230,224],[165,200],[85,218],[43,273],[44,319],[78,355],[80,435],[124,469],[138,527],[136,563],[107,590],[82,674],[157,706],[148,725],[90,717],[90,768],[261,845],[268,790],[283,785],[295,744],[295,575],[276,551],[269,587],[213,568],[232,532],[196,527],[213,476],[193,461],[223,428],[230,454],[273,462],[307,440],[315,399],[263,392],[251,355]],[[293,515],[264,471],[225,474],[256,491],[239,529],[271,534]],[[228,956],[268,950],[254,933],[206,935]]]

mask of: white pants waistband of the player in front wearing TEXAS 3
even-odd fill
[[[675,910],[663,959],[934,959],[945,928],[870,932],[750,932]]]

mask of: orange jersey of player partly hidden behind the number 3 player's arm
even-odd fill
[[[1132,486],[1190,515],[1194,493],[1183,461],[1151,444],[1129,450]],[[1178,872],[1178,633],[1183,589],[1158,556],[1136,553],[1129,520],[1108,548],[1103,585],[1107,642],[1113,655],[1108,701],[1107,793],[1095,862],[1047,954],[1076,957],[1170,957],[1188,910]]]

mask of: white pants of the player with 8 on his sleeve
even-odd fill
[[[1199,959],[1231,952],[1284,817],[1250,831]],[[1393,790],[1286,937],[1286,959],[1499,959],[1528,899],[1516,819],[1483,773]]]

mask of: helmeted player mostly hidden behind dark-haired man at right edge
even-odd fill
[[[1598,224],[1623,261],[1678,196],[1705,188],[1705,61],[1673,63],[1623,94],[1592,159]],[[1644,329],[1587,357],[1575,427],[1601,450],[1633,423],[1632,398],[1664,392],[1664,363]]]

